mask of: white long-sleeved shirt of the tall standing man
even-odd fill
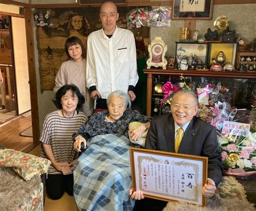
[[[112,37],[103,28],[90,33],[87,40],[86,86],[96,86],[101,98],[110,92],[128,91],[138,82],[137,57],[133,32],[115,28]]]

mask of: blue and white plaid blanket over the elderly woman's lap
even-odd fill
[[[74,167],[74,197],[79,210],[133,210],[129,139],[94,136]]]

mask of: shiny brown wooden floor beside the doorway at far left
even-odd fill
[[[31,116],[20,115],[14,120],[0,126],[0,144],[8,149],[28,153],[38,144],[34,144],[32,137],[19,136],[19,133],[32,125]]]

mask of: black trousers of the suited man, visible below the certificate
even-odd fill
[[[145,198],[136,200],[133,211],[161,211],[167,205],[167,201]]]

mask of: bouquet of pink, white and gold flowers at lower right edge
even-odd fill
[[[248,132],[246,136],[234,132],[218,132],[219,150],[224,165],[224,174],[250,176],[256,174],[256,133]],[[242,129],[241,129],[242,130]]]

